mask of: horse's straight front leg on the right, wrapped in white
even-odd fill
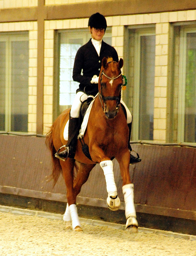
[[[125,217],[126,217],[126,229],[131,232],[135,233],[138,229],[138,222],[136,220],[136,211],[135,211],[135,205],[134,205],[134,185],[130,178],[129,173],[129,159],[130,159],[130,153],[128,150],[125,150],[125,152],[120,156],[116,157],[119,166],[120,166],[120,172],[123,179],[123,195],[124,195],[124,203],[125,203]]]

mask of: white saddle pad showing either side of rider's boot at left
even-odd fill
[[[98,93],[97,93],[97,95],[98,95]],[[91,108],[93,106],[94,100],[97,97],[97,95],[94,97],[94,99],[91,101],[90,105],[87,108],[87,111],[85,113],[81,128],[79,130],[78,139],[81,138],[82,136],[84,136],[84,133],[85,133],[86,128],[87,128],[88,118],[89,118],[89,115],[90,115],[90,112],[91,112]],[[63,132],[64,140],[68,140],[68,127],[69,127],[69,120],[65,124],[65,128],[64,128],[64,132]]]

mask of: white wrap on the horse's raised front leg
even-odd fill
[[[100,166],[103,169],[108,196],[117,196],[117,187],[114,180],[113,163],[111,160],[102,161]]]

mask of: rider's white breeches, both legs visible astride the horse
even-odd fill
[[[92,96],[91,96],[92,97]],[[70,116],[71,117],[79,117],[79,109],[80,109],[80,106],[82,104],[82,102],[84,100],[87,100],[88,98],[88,95],[84,92],[77,92],[76,93],[76,96],[73,100],[73,104],[72,104],[72,108],[71,108],[71,111],[70,111]],[[126,109],[126,112],[127,112],[127,124],[131,123],[132,122],[132,114],[131,112],[129,111],[129,109],[127,108],[126,104],[124,103],[124,101],[121,99],[120,102],[123,104],[123,106],[125,107]]]

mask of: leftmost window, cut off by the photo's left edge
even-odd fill
[[[0,34],[0,130],[27,132],[28,35]]]

